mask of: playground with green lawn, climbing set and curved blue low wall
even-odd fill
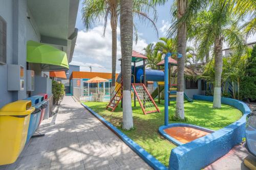
[[[154,70],[146,69],[147,58],[133,51],[131,98],[134,129],[129,131],[122,129],[121,72],[116,79],[109,103],[83,102],[83,104],[118,128],[163,165],[189,169],[193,164],[195,169],[202,168],[242,142],[244,135],[241,133],[243,131],[241,125],[244,124],[244,117],[249,110],[243,103],[228,98],[222,99],[221,109],[213,109],[211,96],[194,94],[192,99],[186,92],[177,92],[178,82],[173,74],[173,69],[177,66],[177,61],[172,58],[174,55],[177,58],[182,57],[178,53],[167,53],[164,60],[157,64],[158,69]],[[143,64],[137,65],[138,62]],[[151,92],[147,89],[148,81],[156,84]],[[175,117],[178,95],[181,96],[179,100],[184,99],[183,122],[179,122],[180,120]],[[224,148],[219,142],[225,142]],[[216,146],[215,151],[212,151],[213,146]],[[214,157],[206,156],[208,152]],[[183,159],[185,154],[191,158],[187,164],[186,159]],[[198,163],[193,163],[195,161]],[[159,167],[156,165],[155,168]]]

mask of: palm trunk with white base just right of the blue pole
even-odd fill
[[[185,13],[187,7],[186,0],[177,0],[178,4],[178,16],[180,19]],[[177,42],[178,42],[178,53],[182,54],[181,58],[178,58],[178,74],[177,74],[177,103],[176,103],[176,116],[184,119],[184,67],[186,57],[186,42],[187,42],[187,27],[186,22],[181,22],[178,25],[177,30]]]

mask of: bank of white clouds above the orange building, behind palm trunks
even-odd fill
[[[133,50],[143,53],[143,48],[147,43],[138,34],[138,42],[133,42]],[[117,72],[120,71],[121,43],[120,28],[117,28]],[[75,51],[71,64],[80,65],[80,69],[89,71],[111,72],[112,61],[112,30],[110,24],[106,27],[103,36],[103,25],[98,25],[88,31],[80,30],[77,35]]]

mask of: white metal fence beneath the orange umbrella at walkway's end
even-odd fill
[[[110,102],[110,89],[107,88],[74,88],[73,95],[80,102]]]

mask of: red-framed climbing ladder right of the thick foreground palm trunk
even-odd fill
[[[144,114],[160,112],[143,83],[132,83],[132,86]]]

